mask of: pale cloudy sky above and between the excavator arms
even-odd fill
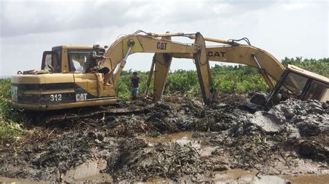
[[[121,35],[196,33],[248,37],[285,57],[329,57],[328,1],[6,1],[0,0],[0,75],[40,69],[42,53],[60,45],[108,45]],[[192,44],[187,38],[175,41]],[[125,70],[148,71],[151,53],[130,55]],[[221,64],[219,62],[212,62]],[[195,70],[173,59],[171,71]]]

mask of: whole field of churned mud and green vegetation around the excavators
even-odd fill
[[[329,58],[285,58],[282,64],[329,77]],[[155,104],[144,98],[148,73],[139,72],[140,98],[129,102],[131,75],[124,71],[119,79],[117,106],[136,113],[122,116],[108,113],[115,107],[51,118],[12,109],[10,80],[0,80],[0,181],[6,176],[70,182],[71,171],[94,160],[107,163],[99,170],[113,181],[183,181],[192,175],[192,181],[208,181],[209,174],[228,169],[315,174],[311,166],[328,177],[328,103],[288,100],[268,113],[242,111],[239,104],[248,101],[248,93],[266,92],[267,85],[255,68],[220,65],[212,68],[214,108],[202,105],[195,71],[169,73],[164,100]],[[276,127],[257,125],[273,117],[280,122]],[[292,138],[296,132],[299,137]]]

